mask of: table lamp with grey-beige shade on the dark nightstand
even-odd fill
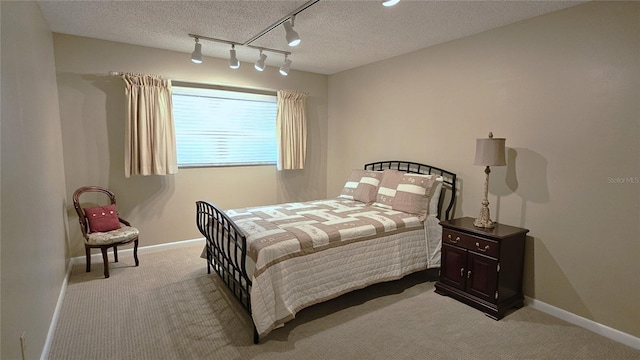
[[[493,229],[493,221],[491,221],[491,216],[489,215],[489,200],[487,199],[489,193],[489,173],[491,172],[490,166],[507,165],[504,156],[505,141],[506,139],[504,138],[494,138],[491,132],[486,139],[476,139],[476,160],[474,165],[486,166],[484,169],[486,175],[482,209],[480,210],[480,216],[473,222],[473,225],[479,228]]]

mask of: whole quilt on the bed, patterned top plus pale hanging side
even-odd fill
[[[343,198],[226,213],[247,238],[260,336],[307,306],[429,267],[427,227],[412,214]]]

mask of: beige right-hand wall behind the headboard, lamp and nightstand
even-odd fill
[[[455,216],[475,217],[493,131],[490,208],[530,229],[525,294],[640,336],[639,17],[593,2],[331,75],[327,193],[408,159],[457,172]]]

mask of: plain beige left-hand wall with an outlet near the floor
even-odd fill
[[[40,357],[66,273],[53,39],[35,2],[2,9],[2,359]]]

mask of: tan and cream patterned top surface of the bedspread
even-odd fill
[[[417,216],[335,198],[228,210],[247,237],[254,277],[292,257],[422,229]]]

